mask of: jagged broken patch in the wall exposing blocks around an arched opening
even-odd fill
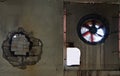
[[[42,46],[40,39],[18,28],[3,41],[3,57],[14,67],[26,69],[27,65],[34,65],[41,59]]]

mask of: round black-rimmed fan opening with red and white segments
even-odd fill
[[[98,44],[105,41],[109,34],[108,22],[97,14],[82,17],[78,23],[79,38],[88,44]]]

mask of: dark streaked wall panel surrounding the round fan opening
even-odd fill
[[[115,32],[118,30],[118,5],[68,3],[66,9],[67,42],[73,42],[81,50],[80,69],[118,69],[118,33]],[[109,22],[110,34],[102,44],[88,45],[77,35],[79,20],[91,13],[102,15]]]

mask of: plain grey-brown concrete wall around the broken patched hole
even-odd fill
[[[62,4],[62,0],[0,2],[0,46],[8,33],[18,27],[43,43],[41,60],[24,70],[9,64],[0,49],[0,76],[63,76]]]

